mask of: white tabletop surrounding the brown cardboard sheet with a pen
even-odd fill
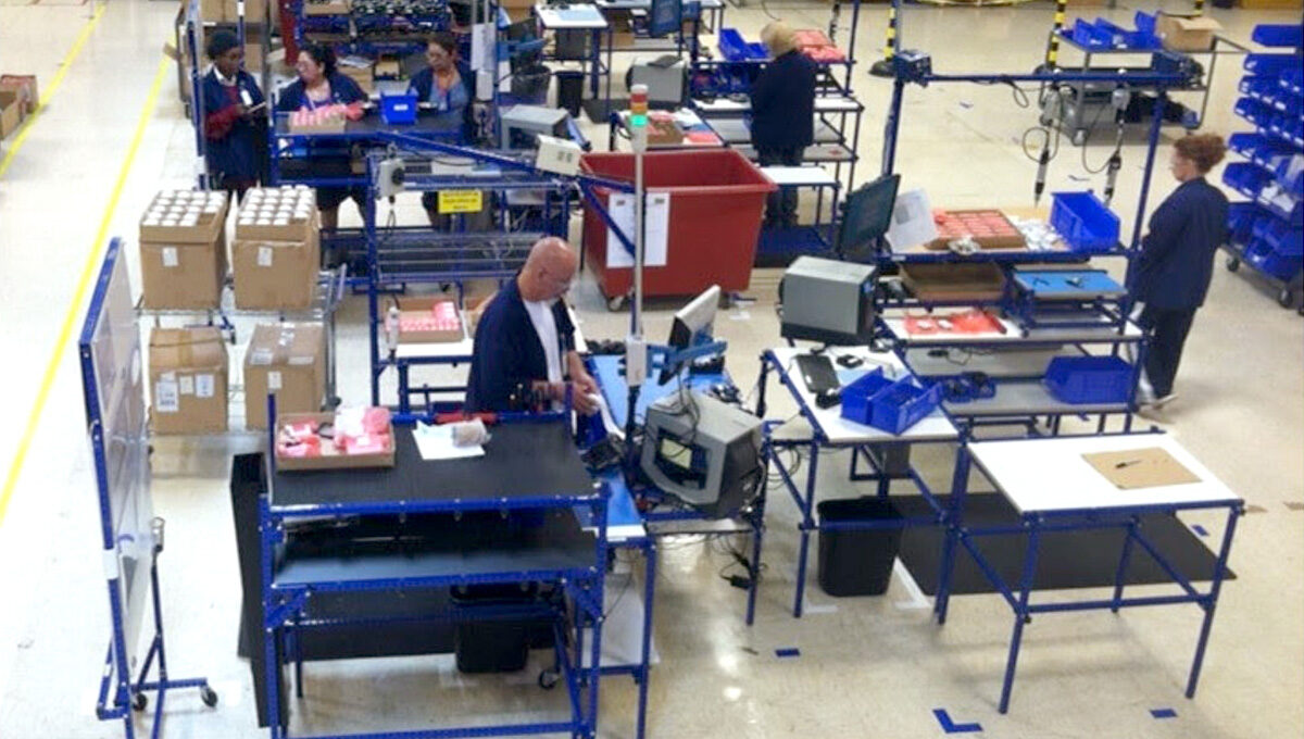
[[[1151,447],[1167,451],[1200,482],[1123,490],[1082,459],[1084,454]],[[969,444],[969,452],[1020,514],[1240,500],[1167,434],[975,442]]]

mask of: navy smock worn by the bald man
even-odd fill
[[[553,304],[562,371],[566,355],[575,348],[575,326],[566,304]],[[511,396],[522,384],[548,381],[544,344],[512,279],[489,301],[476,327],[471,375],[467,378],[468,412],[512,411]]]

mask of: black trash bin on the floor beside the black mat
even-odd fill
[[[824,500],[815,507],[820,524],[880,521],[884,528],[822,530],[819,587],[835,597],[882,596],[892,579],[892,562],[901,549],[901,514],[891,499],[878,497]]]

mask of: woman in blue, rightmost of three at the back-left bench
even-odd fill
[[[430,115],[421,117],[421,132],[447,133],[450,143],[473,143],[476,78],[459,59],[458,36],[447,31],[430,36],[425,60],[428,66],[408,83],[408,93],[430,106]],[[421,193],[421,206],[430,225],[449,228],[449,218],[439,216],[437,193]]]

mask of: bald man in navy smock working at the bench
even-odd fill
[[[575,326],[561,297],[579,257],[561,239],[535,242],[526,266],[493,297],[476,327],[466,409],[518,411],[533,399],[559,408],[567,391],[580,413],[597,412],[597,383],[575,352]]]

